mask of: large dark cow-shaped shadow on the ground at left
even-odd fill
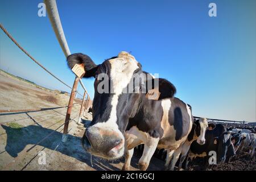
[[[23,151],[27,144],[37,144],[38,146],[43,146],[50,150],[61,152],[61,154],[75,158],[81,162],[86,163],[88,166],[91,166],[90,154],[86,153],[82,148],[81,137],[68,135],[68,141],[63,143],[61,142],[62,133],[52,129],[47,129],[45,127],[35,125],[20,128],[13,128],[5,125],[1,126],[3,129],[5,129],[7,134],[5,150],[13,158],[18,156],[19,152]],[[47,137],[48,135],[49,137]],[[32,156],[32,152],[33,149],[30,150],[30,148],[28,148],[27,155]],[[111,163],[104,162],[101,159],[93,157],[92,161],[92,168],[96,170],[119,170]],[[120,161],[115,161],[113,163],[119,162]]]

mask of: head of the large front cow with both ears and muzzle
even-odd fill
[[[85,130],[82,146],[86,151],[101,158],[120,158],[125,150],[124,133],[129,118],[137,114],[141,103],[147,99],[146,85],[151,82],[154,88],[155,78],[141,76],[146,72],[142,71],[141,64],[134,56],[127,52],[120,52],[118,56],[105,60],[100,65],[94,64],[89,56],[81,53],[68,56],[69,68],[82,63],[86,71],[84,77],[95,78],[93,119]],[[139,86],[130,84],[138,76],[141,76]],[[108,84],[102,84],[106,83],[106,80]],[[159,91],[162,86],[167,90],[160,94],[159,99],[172,97],[176,92],[174,85],[164,79],[159,78],[158,81]],[[130,92],[130,89],[141,91],[143,88],[146,88],[146,93]]]

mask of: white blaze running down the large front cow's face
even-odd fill
[[[104,130],[112,130],[118,133],[119,137],[125,140],[123,134],[118,129],[117,125],[117,104],[118,97],[122,94],[124,88],[127,87],[131,78],[133,77],[133,73],[136,69],[138,69],[138,61],[135,60],[134,56],[130,55],[127,52],[120,52],[118,57],[115,59],[109,60],[111,64],[110,70],[110,79],[112,81],[112,85],[110,88],[113,93],[112,101],[111,101],[111,112],[108,121],[106,122],[98,122],[95,127],[102,128]],[[125,142],[123,142],[124,144]],[[124,149],[124,147],[123,147]],[[123,154],[123,151],[120,153]]]

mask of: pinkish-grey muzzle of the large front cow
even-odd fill
[[[123,137],[116,131],[100,129],[99,127],[88,127],[82,137],[82,146],[92,155],[105,159],[117,159],[123,156]]]

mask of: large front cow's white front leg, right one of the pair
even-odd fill
[[[148,138],[147,142],[144,142],[144,150],[143,154],[141,156],[141,159],[139,159],[139,169],[142,171],[146,171],[150,159],[152,158],[152,155],[154,154],[156,147],[158,146],[159,138]]]

